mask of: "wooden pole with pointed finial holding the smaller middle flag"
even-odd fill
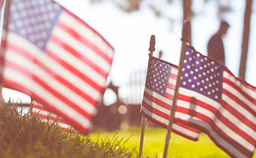
[[[154,45],[156,44],[154,35],[151,35],[151,41],[149,43],[149,55],[153,56],[153,52],[155,50]],[[145,133],[145,124],[147,119],[142,115],[142,131],[141,131],[141,141],[139,144],[139,157],[142,157],[142,148],[143,148],[143,141],[144,141],[144,133]]]

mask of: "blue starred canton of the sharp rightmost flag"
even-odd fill
[[[218,63],[187,47],[181,87],[221,102],[223,68]]]

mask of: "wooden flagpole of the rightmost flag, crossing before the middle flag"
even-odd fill
[[[168,147],[169,147],[169,139],[171,138],[170,132],[172,131],[172,123],[173,123],[174,117],[175,117],[176,104],[177,104],[177,100],[178,100],[178,88],[181,84],[181,75],[182,75],[181,68],[183,67],[183,63],[184,63],[183,61],[184,61],[186,43],[190,42],[190,22],[186,21],[186,20],[184,20],[184,23],[183,23],[181,41],[182,41],[182,44],[181,44],[181,55],[180,55],[179,65],[178,65],[178,77],[177,77],[175,93],[174,93],[173,101],[172,101],[172,111],[171,111],[171,114],[169,117],[169,126],[168,126],[167,133],[166,133],[166,144],[165,144],[165,147],[163,150],[163,158],[166,158],[166,156],[167,156],[167,151],[168,151]]]

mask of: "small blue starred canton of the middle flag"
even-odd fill
[[[171,70],[172,66],[150,56],[145,87],[164,96]]]

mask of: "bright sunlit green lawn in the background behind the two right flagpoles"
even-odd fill
[[[112,138],[117,132],[118,138],[129,138],[124,146],[136,147],[139,151],[140,128],[130,127],[129,129],[120,129],[119,131],[107,132],[105,130],[94,130],[90,133],[90,138]],[[163,128],[146,128],[143,147],[143,156],[163,157],[163,147],[165,144],[166,129]],[[219,149],[206,134],[201,134],[199,141],[190,141],[175,133],[169,144],[168,157],[172,158],[225,158],[230,157]],[[255,158],[254,154],[254,158]]]

